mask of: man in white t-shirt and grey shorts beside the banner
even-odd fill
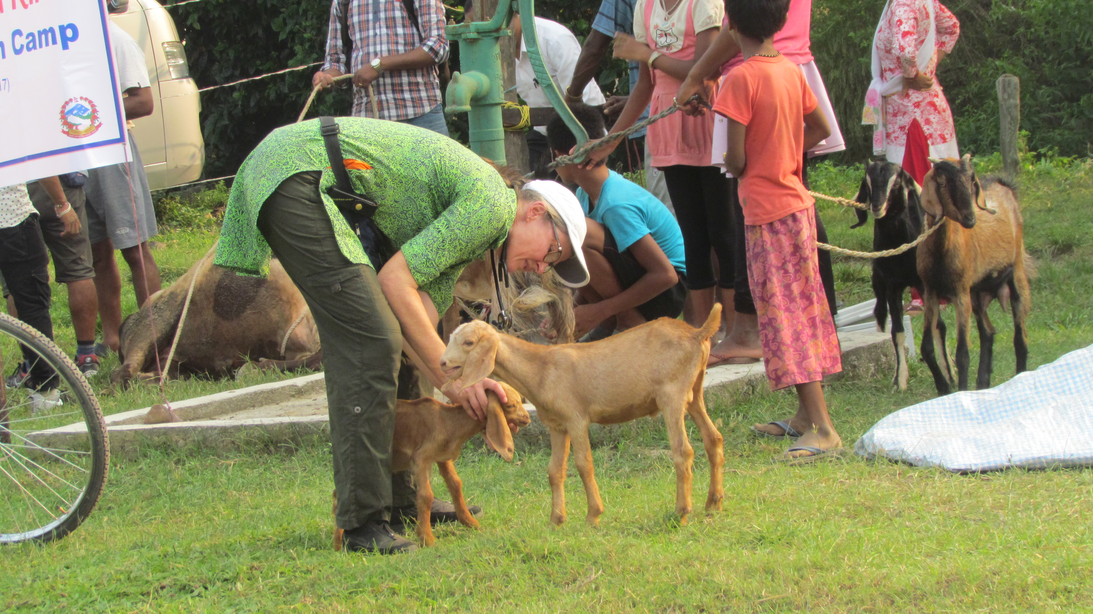
[[[131,121],[152,115],[152,81],[144,52],[124,29],[114,22],[107,23],[118,81],[125,95],[126,119]],[[132,152],[130,162],[93,168],[85,186],[87,234],[94,259],[98,315],[103,321],[103,343],[115,352],[121,328],[121,274],[114,250],[121,250],[132,272],[138,307],[161,287],[160,269],[148,247],[149,238],[158,233],[155,210],[132,132],[129,133],[129,150]]]

